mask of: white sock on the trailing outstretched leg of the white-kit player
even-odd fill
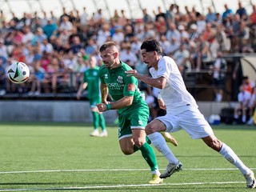
[[[229,146],[226,146],[224,142],[222,142],[222,149],[219,151],[219,154],[222,154],[226,160],[236,166],[242,174],[248,174],[250,172],[250,169],[243,164],[240,158],[238,158],[238,155]]]

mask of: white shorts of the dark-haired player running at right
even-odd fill
[[[214,134],[209,123],[198,109],[186,110],[177,115],[166,114],[158,117],[158,119],[166,125],[166,132],[173,133],[183,129],[190,134],[190,138],[194,139],[206,138]]]

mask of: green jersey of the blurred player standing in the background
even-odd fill
[[[98,76],[98,70],[99,67],[95,66],[94,69],[88,69],[84,72],[83,75],[83,82],[87,82],[87,90],[88,94],[87,97],[89,99],[93,98],[100,98],[101,93],[100,93],[100,88],[99,88],[99,76]]]

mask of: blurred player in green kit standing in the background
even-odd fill
[[[99,88],[99,76],[98,76],[98,69],[97,66],[97,59],[95,56],[90,56],[89,58],[90,68],[84,72],[83,82],[77,93],[77,98],[80,99],[82,90],[85,90],[87,87],[87,98],[90,101],[90,109],[93,115],[93,123],[94,123],[94,131],[90,133],[90,136],[95,137],[106,137],[106,122],[102,112],[98,111],[96,106],[97,103],[101,102],[101,93]],[[98,126],[102,127],[102,133],[99,133]]]

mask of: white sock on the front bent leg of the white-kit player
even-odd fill
[[[167,146],[166,140],[163,138],[162,134],[155,132],[147,136],[150,138],[152,145],[167,158],[168,162],[178,164],[178,159],[171,152],[169,146]]]

